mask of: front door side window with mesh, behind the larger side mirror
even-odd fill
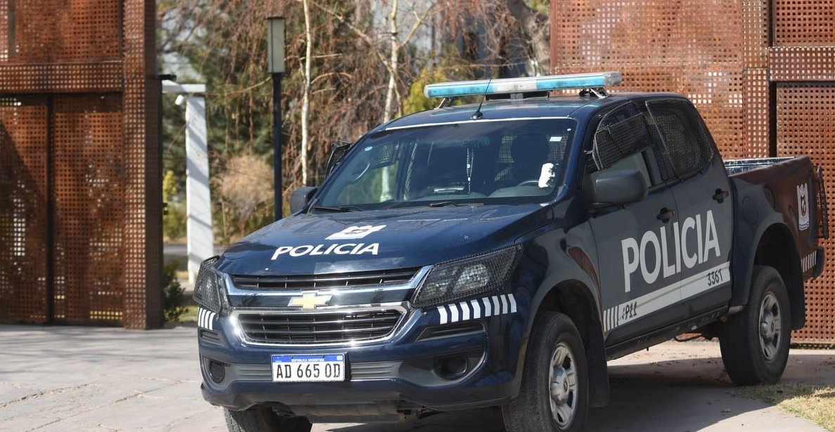
[[[605,169],[636,169],[643,174],[646,184],[650,171],[646,156],[652,138],[644,116],[632,103],[627,103],[606,114],[595,132],[594,147],[588,158],[587,172]]]

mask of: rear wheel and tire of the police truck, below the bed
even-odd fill
[[[754,266],[747,307],[722,323],[719,332],[722,363],[734,384],[774,384],[782,377],[792,337],[791,314],[777,270]]]

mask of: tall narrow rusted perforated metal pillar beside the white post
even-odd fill
[[[124,326],[162,323],[161,83],[154,79],[154,2],[124,8]],[[156,102],[154,102],[156,101]]]

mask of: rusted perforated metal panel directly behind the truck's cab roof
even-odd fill
[[[685,94],[721,152],[746,157],[740,4],[552,2],[551,16],[559,17],[551,31],[552,67],[557,73],[620,70],[617,91]]]

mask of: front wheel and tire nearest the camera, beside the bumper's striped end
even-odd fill
[[[578,432],[589,411],[589,368],[583,341],[564,314],[546,312],[534,323],[519,397],[502,407],[508,432]]]

